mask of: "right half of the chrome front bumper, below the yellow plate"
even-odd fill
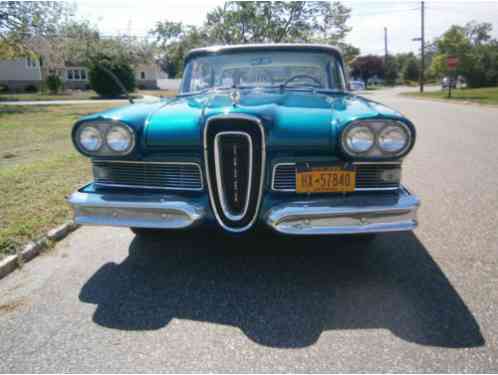
[[[380,196],[338,196],[301,200],[272,207],[266,223],[284,234],[360,234],[415,229],[420,200],[405,187]]]

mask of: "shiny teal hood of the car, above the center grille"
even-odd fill
[[[270,149],[330,152],[337,147],[341,129],[352,120],[402,118],[386,106],[348,93],[251,91],[237,92],[236,99],[233,94],[177,97],[154,105],[143,121],[143,128],[139,129],[142,145],[146,149],[199,149],[208,118],[242,113],[261,120]],[[141,111],[130,107],[113,111],[113,118],[137,121]]]

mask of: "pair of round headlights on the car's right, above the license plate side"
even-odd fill
[[[397,157],[413,142],[407,125],[393,120],[364,120],[349,124],[342,133],[342,148],[353,157]]]

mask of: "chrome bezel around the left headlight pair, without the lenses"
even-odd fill
[[[81,133],[87,128],[94,128],[99,132],[100,138],[102,139],[102,144],[95,151],[86,149],[80,141]],[[108,135],[112,129],[120,128],[126,131],[130,136],[130,143],[126,149],[123,151],[116,151],[108,143]],[[94,120],[76,123],[73,128],[72,133],[73,144],[76,149],[85,156],[89,157],[112,157],[112,156],[126,156],[133,152],[136,145],[136,134],[135,131],[128,125],[117,121],[117,120]]]

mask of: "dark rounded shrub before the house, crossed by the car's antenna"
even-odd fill
[[[135,73],[128,62],[101,58],[94,61],[89,69],[90,87],[99,96],[118,97],[124,94],[106,69],[116,75],[128,92],[135,90]]]

